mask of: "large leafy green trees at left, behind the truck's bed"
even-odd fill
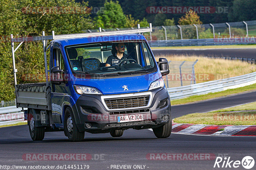
[[[54,7],[55,11],[42,12],[38,7]],[[63,11],[65,7],[75,7],[80,12]],[[41,36],[42,31],[46,35],[51,35],[53,30],[56,34],[82,32],[82,29],[88,29],[92,25],[90,11],[87,10],[87,3],[80,4],[74,0],[1,0],[0,35],[8,39],[1,39],[0,46],[0,100],[9,101],[15,97],[10,34],[19,38]],[[15,47],[17,45],[15,43]],[[18,83],[28,82],[21,79],[24,74],[43,74],[42,41],[24,42],[15,52],[15,61]]]

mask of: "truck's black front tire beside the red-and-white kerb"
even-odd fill
[[[167,124],[153,129],[157,138],[168,138],[172,133],[172,119]]]

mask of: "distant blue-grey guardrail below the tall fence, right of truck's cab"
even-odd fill
[[[220,46],[256,44],[256,39],[252,38],[215,38],[215,39],[170,39],[148,41],[151,47],[157,46]]]

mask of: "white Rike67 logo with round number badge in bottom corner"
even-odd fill
[[[241,165],[245,169],[251,169],[254,166],[254,159],[251,156],[245,156],[242,161],[240,160],[231,160],[230,157],[216,157],[215,163],[214,163],[214,168],[238,168],[241,167]]]

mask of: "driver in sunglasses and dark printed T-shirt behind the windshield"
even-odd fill
[[[114,49],[112,50],[112,55],[108,56],[108,59],[106,61],[105,67],[108,66],[118,66],[120,61],[124,59],[124,57],[127,55],[124,53],[125,49],[124,43],[116,43],[114,44]],[[114,55],[115,54],[115,55]],[[127,59],[132,59],[131,56],[128,56]],[[126,64],[126,61],[122,63]]]

